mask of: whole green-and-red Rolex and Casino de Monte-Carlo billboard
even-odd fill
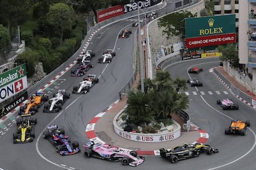
[[[236,15],[186,18],[186,47],[236,43]]]

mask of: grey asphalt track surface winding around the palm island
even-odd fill
[[[129,22],[128,22],[129,23]],[[131,23],[131,22],[130,22]],[[96,158],[86,159],[82,152],[72,156],[60,156],[55,152],[54,147],[41,136],[41,132],[50,124],[58,124],[64,127],[66,133],[72,140],[77,140],[80,144],[87,142],[85,137],[85,127],[88,122],[105,110],[118,99],[119,89],[132,74],[132,51],[131,42],[134,37],[129,39],[118,39],[116,44],[117,32],[126,27],[127,23],[109,26],[105,31],[99,31],[93,37],[89,49],[96,53],[93,59],[94,68],[88,73],[100,76],[100,81],[92,90],[85,95],[71,94],[71,98],[64,104],[64,109],[59,113],[43,113],[42,108],[36,113],[38,124],[36,124],[36,139],[28,144],[12,144],[12,132],[15,132],[15,116],[6,121],[9,126],[1,133],[0,137],[0,167],[2,169],[128,169],[128,166],[121,166],[121,163],[111,163],[98,160]],[[120,40],[120,42],[119,42]],[[131,41],[131,42],[127,42]],[[117,56],[109,64],[98,64],[97,56],[101,55],[105,49],[115,49]],[[210,61],[210,62],[209,62]],[[120,64],[122,63],[122,64]],[[198,65],[203,68],[203,72],[194,75],[203,82],[203,87],[197,87],[198,91],[228,91],[221,82],[212,75],[208,69],[218,66],[218,60],[189,60],[167,68],[173,78],[182,76],[189,78],[187,68]],[[181,69],[182,68],[182,69]],[[104,72],[103,72],[104,70]],[[176,70],[180,70],[177,72]],[[102,73],[103,72],[103,73]],[[101,74],[102,73],[102,74]],[[45,91],[51,92],[57,89],[67,89],[70,93],[74,84],[78,84],[82,78],[71,78],[70,72],[61,76],[54,84]],[[195,87],[189,87],[189,94],[197,91]],[[238,111],[221,110],[216,105],[217,99],[226,97],[239,103]],[[237,100],[232,94],[213,94],[213,95],[189,95],[190,108],[189,114],[192,122],[205,129],[210,138],[207,144],[218,148],[220,153],[200,155],[199,158],[179,161],[171,164],[163,160],[160,156],[146,156],[145,163],[136,169],[255,169],[255,110]],[[227,127],[231,119],[250,119],[251,126],[247,129],[245,136],[224,136],[224,127]],[[38,146],[36,149],[36,145]],[[227,164],[226,166],[223,166]],[[223,166],[223,167],[222,167]]]

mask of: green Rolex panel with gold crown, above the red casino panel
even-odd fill
[[[186,18],[186,38],[236,33],[236,15]]]

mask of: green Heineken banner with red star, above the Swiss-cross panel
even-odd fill
[[[0,87],[13,83],[17,79],[23,78],[24,76],[27,76],[25,64],[12,68],[11,70],[8,70],[0,75]]]

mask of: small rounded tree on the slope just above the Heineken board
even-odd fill
[[[30,78],[30,76],[33,76],[33,74],[35,73],[35,65],[36,63],[39,62],[39,59],[40,59],[39,52],[33,51],[33,50],[27,50],[22,54],[19,54],[17,58],[19,58],[18,60],[19,64],[22,64],[22,63],[26,64],[28,78]]]

